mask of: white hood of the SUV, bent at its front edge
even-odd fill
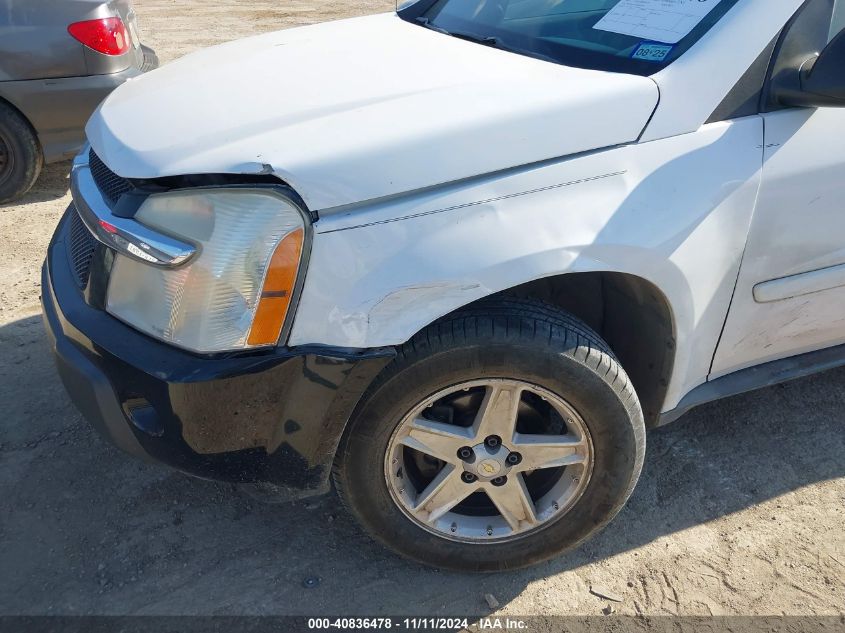
[[[657,102],[646,77],[383,14],[188,55],[118,88],[86,131],[125,178],[273,173],[321,210],[631,142]]]

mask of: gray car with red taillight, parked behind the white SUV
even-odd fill
[[[99,103],[157,66],[129,0],[0,0],[0,203],[73,156]]]

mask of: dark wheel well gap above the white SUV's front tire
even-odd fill
[[[631,379],[646,425],[657,424],[675,360],[672,311],[657,286],[623,273],[571,273],[499,295],[545,301],[598,332]]]

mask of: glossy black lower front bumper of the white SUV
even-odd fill
[[[285,349],[198,356],[86,303],[67,216],[42,272],[44,322],[62,382],[108,440],[208,479],[324,492],[346,422],[392,349]]]

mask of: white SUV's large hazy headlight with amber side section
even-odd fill
[[[270,190],[191,190],[150,196],[135,219],[198,252],[175,268],[115,255],[109,313],[195,352],[278,342],[305,234],[293,202]]]

